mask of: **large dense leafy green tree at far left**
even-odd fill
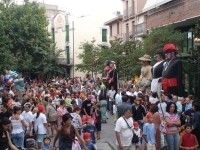
[[[49,72],[51,68],[55,69],[55,61],[48,59],[54,55],[55,48],[47,30],[49,22],[45,16],[45,8],[28,0],[25,0],[24,5],[4,0],[0,4],[0,11],[0,58],[3,58],[1,71],[46,69],[45,72]],[[57,54],[54,56],[58,57]],[[47,63],[53,67],[47,66]]]

